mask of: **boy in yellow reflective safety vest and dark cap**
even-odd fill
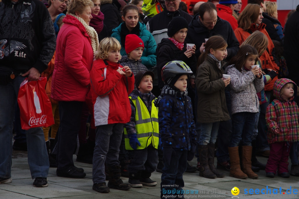
[[[134,158],[129,165],[129,184],[134,188],[142,185],[156,186],[149,177],[158,164],[159,123],[156,97],[151,93],[155,75],[140,71],[135,75],[137,90],[129,95],[132,114],[124,124],[126,150],[133,150]]]

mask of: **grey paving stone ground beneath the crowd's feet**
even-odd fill
[[[1,153],[1,152],[0,152]],[[258,157],[259,161],[266,164],[267,159]],[[92,190],[92,165],[76,161],[77,167],[83,168],[86,177],[83,179],[73,179],[56,176],[56,168],[50,168],[48,176],[48,187],[36,188],[32,185],[33,180],[30,176],[26,152],[14,151],[12,162],[12,183],[0,184],[0,199],[37,199],[37,198],[55,198],[55,199],[156,199],[160,198],[161,173],[154,172],[152,180],[156,180],[158,185],[155,187],[144,186],[142,188],[131,188],[128,191],[110,189],[110,193],[102,194]],[[190,162],[196,165],[196,158]],[[216,158],[215,158],[216,165]],[[289,163],[289,169],[291,163]],[[223,171],[225,177],[216,179],[207,179],[199,177],[199,172],[184,173],[185,198],[232,198],[231,189],[238,187],[240,190],[239,198],[257,198],[257,199],[276,199],[276,198],[299,198],[299,177],[267,178],[265,171],[259,171],[258,179],[239,180],[229,177],[229,171]],[[122,177],[124,182],[128,178]],[[108,181],[106,182],[108,183]],[[268,187],[267,187],[268,186]],[[280,194],[281,188],[281,194]],[[262,194],[266,192],[268,194]],[[269,194],[271,191],[271,194]],[[277,192],[277,194],[273,194]],[[296,192],[297,191],[297,192]],[[284,194],[283,194],[284,193]],[[291,193],[291,194],[290,194]],[[236,197],[236,196],[234,196]]]

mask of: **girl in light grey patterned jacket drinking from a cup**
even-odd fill
[[[232,135],[228,147],[231,160],[229,175],[239,179],[258,178],[258,175],[251,170],[251,137],[260,106],[257,92],[264,88],[262,70],[258,65],[253,66],[257,59],[257,50],[246,44],[231,59],[230,62],[234,64],[225,69],[226,74],[231,76]],[[239,159],[240,143],[242,171]]]

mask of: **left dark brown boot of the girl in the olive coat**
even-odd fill
[[[205,178],[216,178],[217,176],[210,170],[208,164],[208,145],[198,145],[199,150],[199,176]]]

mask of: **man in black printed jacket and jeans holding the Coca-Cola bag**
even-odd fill
[[[0,183],[10,183],[13,118],[21,82],[37,81],[56,46],[49,12],[39,0],[0,2]],[[8,73],[7,73],[8,71]],[[41,127],[26,130],[33,185],[48,186],[49,159]]]

